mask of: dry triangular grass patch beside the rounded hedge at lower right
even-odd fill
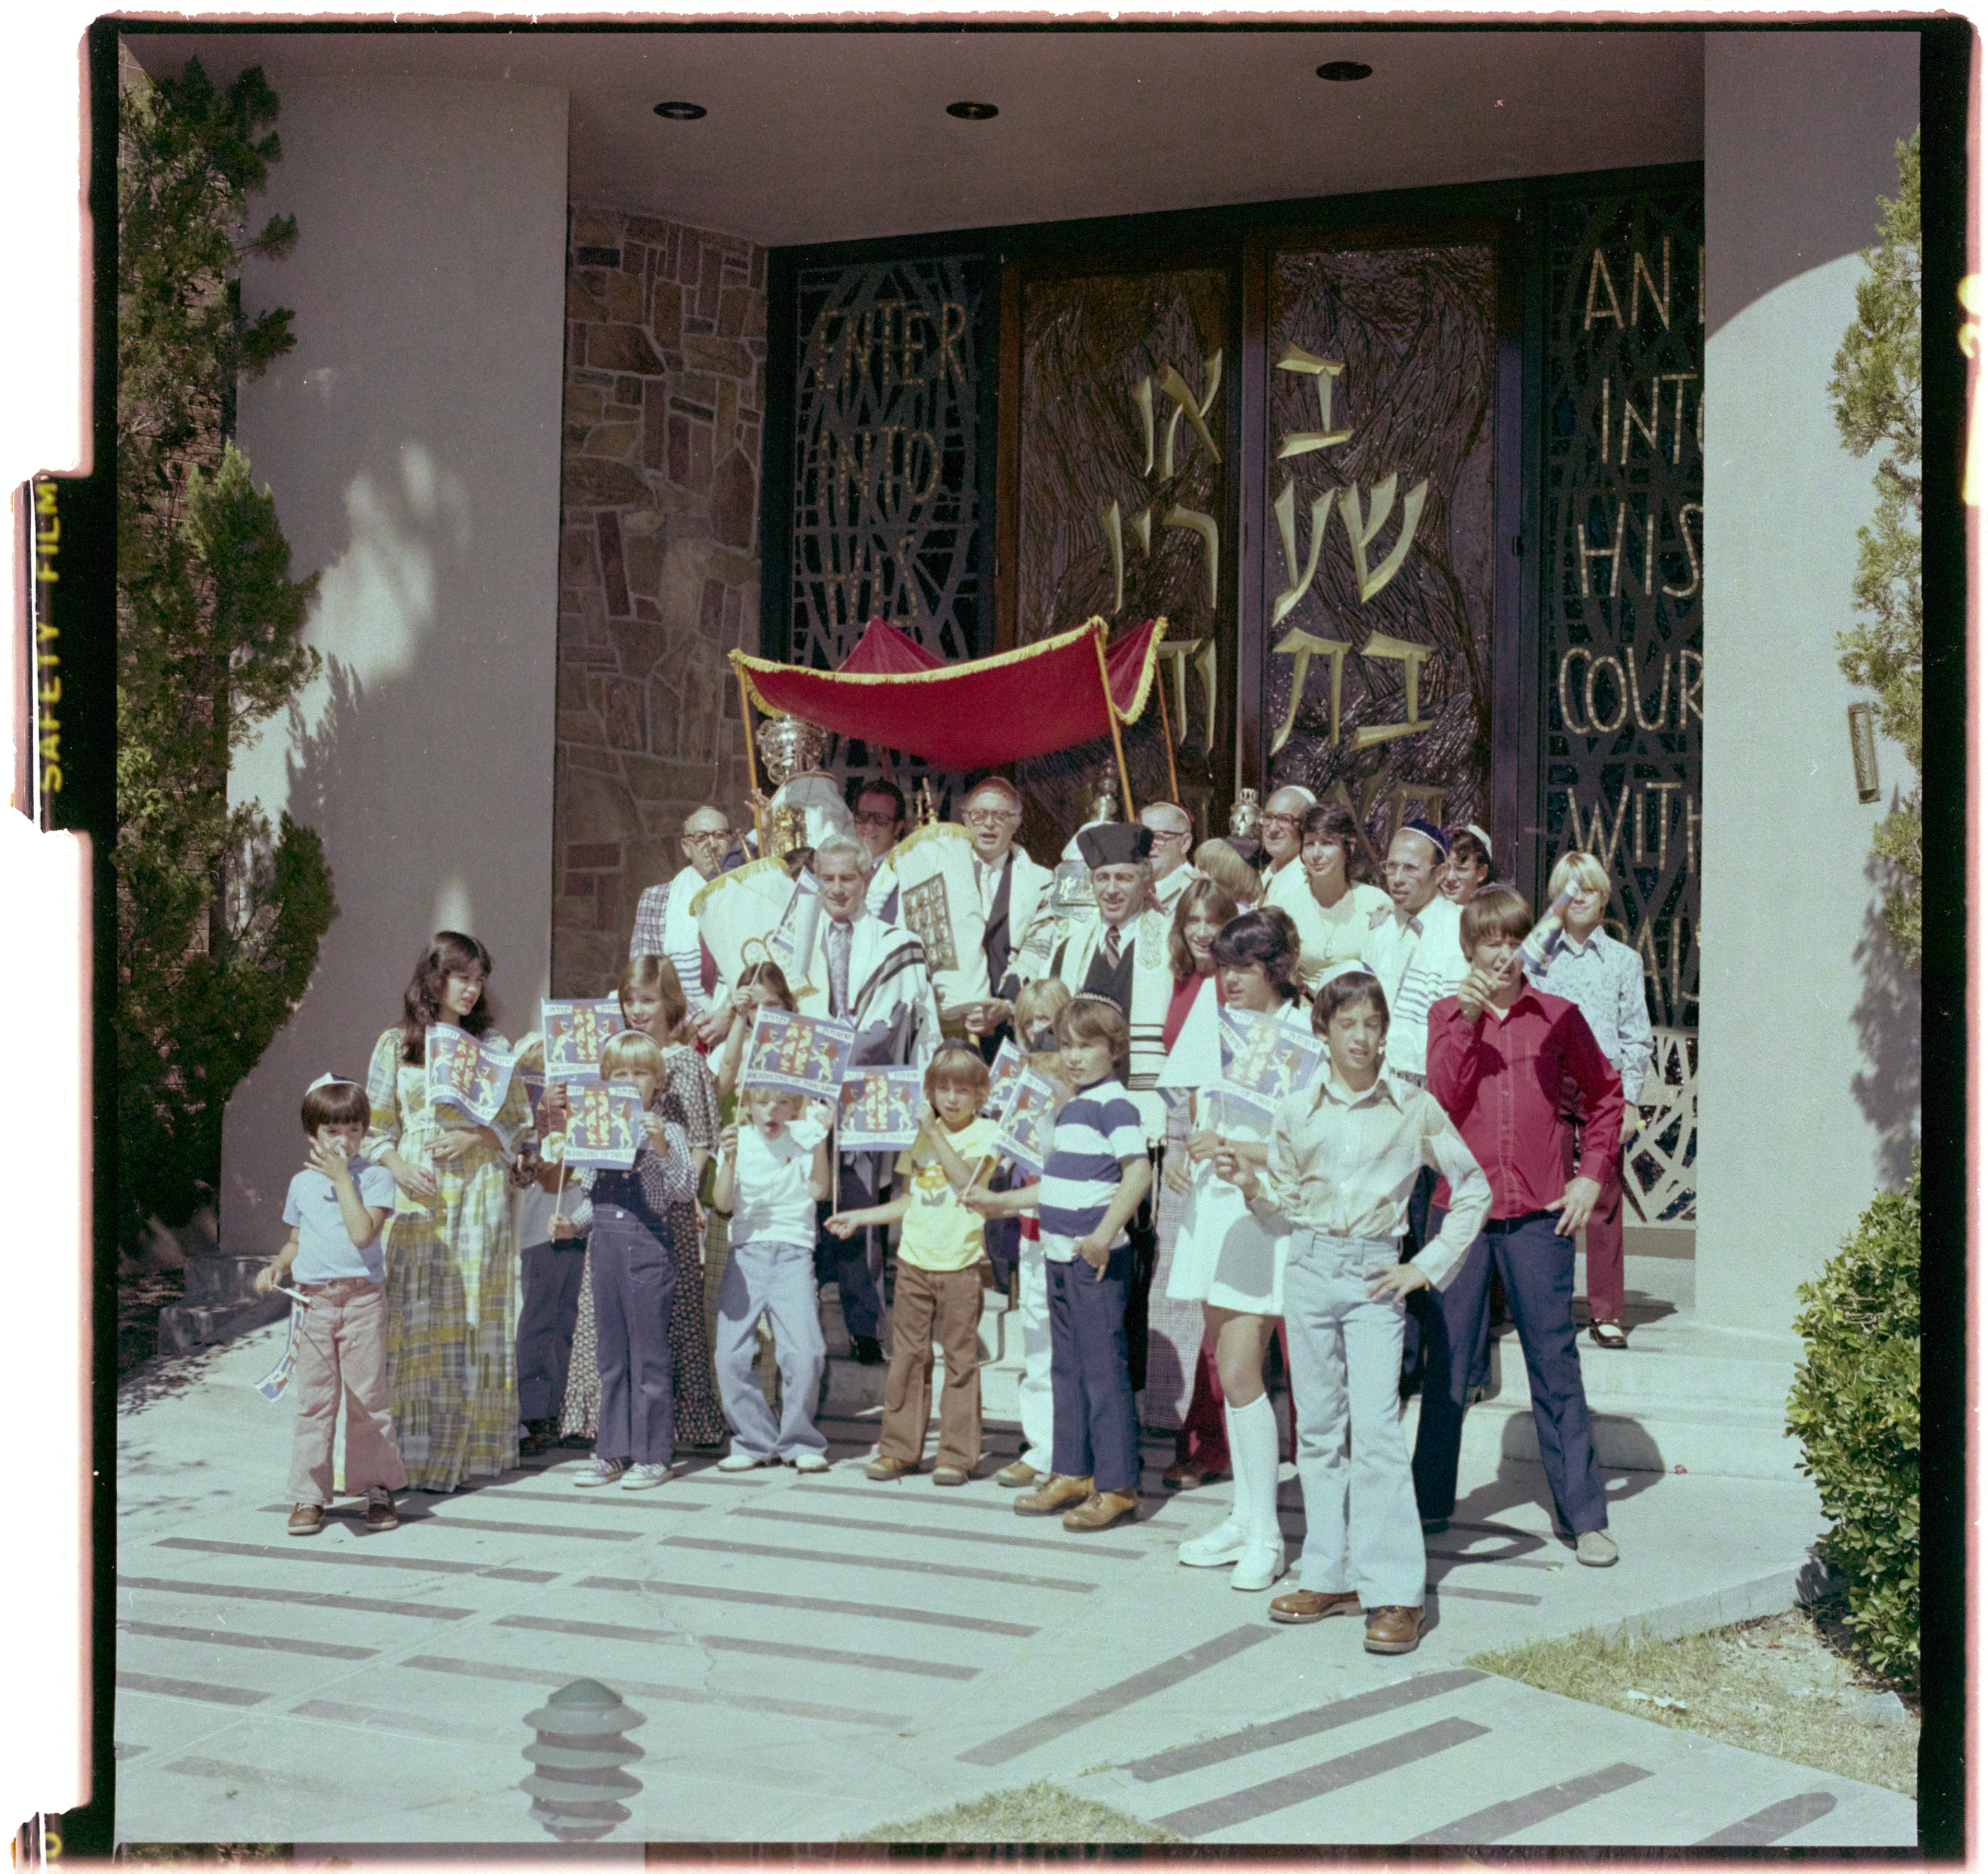
[[[1469,1663],[1507,1679],[1606,1705],[1718,1743],[1803,1763],[1833,1777],[1918,1795],[1918,1699],[1849,1657],[1829,1614],[1775,1614],[1682,1640],[1573,1634]],[[1875,1725],[1863,1707],[1897,1691],[1906,1721]]]

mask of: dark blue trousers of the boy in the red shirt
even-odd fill
[[[1429,1208],[1429,1234],[1445,1212]],[[1608,1528],[1608,1502],[1594,1463],[1588,1395],[1574,1351],[1574,1242],[1553,1228],[1551,1210],[1493,1220],[1469,1246],[1449,1286],[1425,1308],[1421,1423],[1415,1427],[1415,1508],[1447,1516],[1457,1506],[1457,1447],[1471,1359],[1483,1345],[1491,1308],[1491,1266],[1519,1329],[1525,1377],[1533,1387],[1533,1429],[1561,1520],[1576,1536]]]

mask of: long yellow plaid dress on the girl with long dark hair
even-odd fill
[[[400,1057],[400,1029],[374,1045],[366,1071],[372,1125],[364,1153],[394,1149],[435,1172],[437,1192],[396,1186],[386,1232],[386,1375],[394,1437],[410,1490],[453,1490],[467,1477],[517,1467],[517,1244],[505,1153],[477,1143],[433,1163],[441,1127],[427,1069]],[[525,1083],[505,1093],[491,1131],[509,1151],[529,1121]]]

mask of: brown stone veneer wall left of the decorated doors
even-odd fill
[[[600,996],[696,807],[744,813],[765,248],[614,209],[567,234],[553,994]]]

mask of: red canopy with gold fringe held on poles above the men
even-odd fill
[[[732,652],[740,680],[767,715],[799,715],[837,735],[918,755],[936,767],[998,767],[1111,733],[1097,678],[1103,646],[1111,713],[1133,721],[1153,684],[1165,618],[1105,644],[1103,618],[970,664],[946,664],[873,618],[841,670],[803,670]]]

